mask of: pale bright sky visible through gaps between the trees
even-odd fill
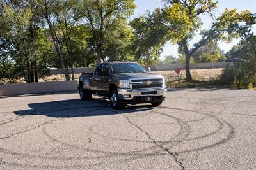
[[[153,11],[154,8],[163,7],[163,3],[161,0],[135,0],[134,3],[136,4],[136,9],[134,11],[134,15],[132,15],[129,20],[132,18],[139,17],[140,15],[145,14],[146,10]],[[256,13],[256,0],[219,0],[218,8],[216,9],[216,16],[220,15],[225,11],[225,8],[234,9],[236,8],[237,11],[241,10],[250,10],[252,13]],[[209,29],[212,24],[212,19],[209,15],[201,15],[202,22],[202,29]],[[256,32],[256,26],[253,27],[253,32]],[[191,41],[189,41],[190,46],[200,40],[200,36],[195,36]],[[227,52],[232,48],[232,46],[239,43],[239,39],[234,39],[231,43],[225,43],[220,41],[218,43],[221,50]],[[169,42],[166,43],[164,46],[164,50],[161,53],[161,59],[164,59],[166,55],[173,55],[177,57],[178,54],[178,46],[172,45]]]

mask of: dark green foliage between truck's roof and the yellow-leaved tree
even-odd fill
[[[136,61],[141,64],[158,64],[163,51],[168,29],[164,22],[163,10],[147,11],[145,16],[134,18],[129,25],[134,31],[134,43],[131,46]]]

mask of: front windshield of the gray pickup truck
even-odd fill
[[[146,73],[147,71],[137,63],[111,64],[111,72],[116,73]]]

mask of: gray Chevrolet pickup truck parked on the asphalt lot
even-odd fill
[[[163,76],[149,73],[136,62],[100,63],[95,73],[81,74],[78,90],[81,100],[95,94],[108,98],[115,109],[136,103],[159,106],[167,94]]]

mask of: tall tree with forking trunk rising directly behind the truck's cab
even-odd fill
[[[133,0],[77,0],[76,4],[77,18],[82,18],[82,22],[85,18],[85,24],[90,26],[99,63],[104,59],[103,46],[109,27],[115,25],[117,28],[118,23],[133,13],[135,5]]]

